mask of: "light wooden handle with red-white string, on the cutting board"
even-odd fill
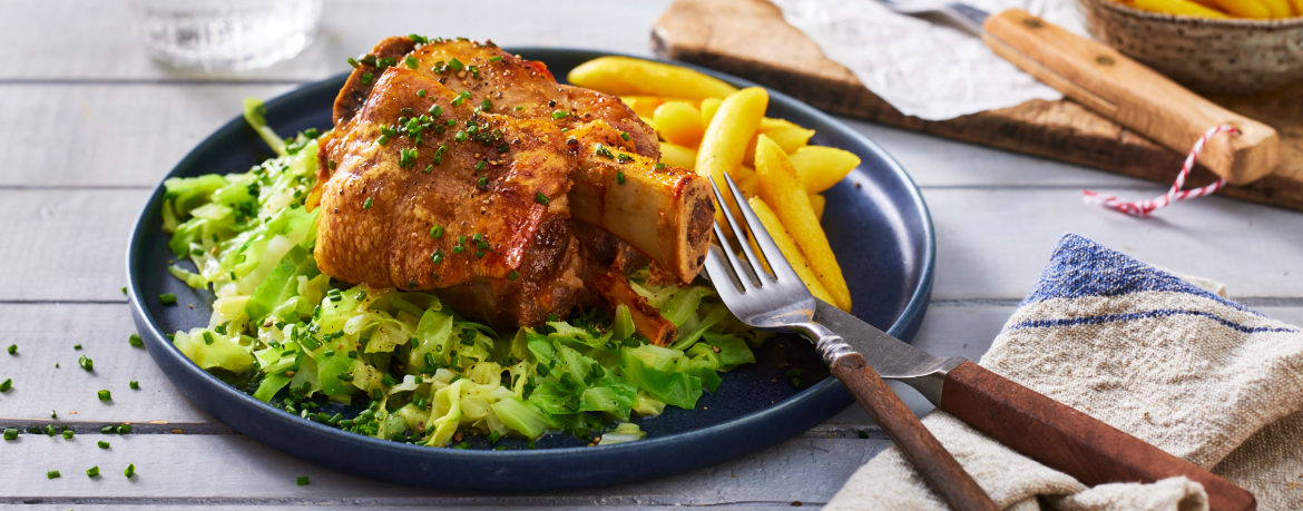
[[[1272,126],[1218,107],[1108,46],[1019,9],[990,16],[982,29],[982,40],[1001,57],[1179,154],[1208,128],[1238,128],[1239,134],[1210,138],[1199,155],[1199,163],[1231,184],[1276,169],[1280,137]]]

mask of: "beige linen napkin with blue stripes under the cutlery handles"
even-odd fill
[[[1217,288],[1067,235],[980,364],[1226,477],[1260,510],[1303,510],[1303,331]],[[1085,488],[947,413],[923,422],[1007,510],[1208,507],[1184,477]],[[891,447],[826,508],[946,506]]]

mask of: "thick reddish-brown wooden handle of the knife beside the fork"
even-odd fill
[[[1204,485],[1210,510],[1257,506],[1235,484],[973,362],[946,375],[941,409],[1088,486],[1186,476]]]

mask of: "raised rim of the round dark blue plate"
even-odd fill
[[[542,56],[547,53],[575,53],[581,55],[586,59],[593,59],[606,55],[622,55],[612,52],[598,52],[589,50],[567,50],[567,48],[537,48],[537,47],[523,47],[511,48],[513,53],[523,53],[530,56]],[[638,59],[646,59],[641,56],[633,56]],[[547,61],[546,57],[538,57],[538,60]],[[672,63],[675,65],[688,66],[702,73],[714,76],[719,80],[724,80],[740,87],[760,86],[748,80],[732,77],[724,73],[719,73],[711,69],[701,68],[692,64],[661,60],[665,63]],[[278,108],[284,103],[293,103],[296,99],[311,95],[322,87],[335,89],[340,86],[345,74],[326,78],[323,81],[310,83],[289,91],[281,96],[278,96],[267,102],[268,110]],[[790,103],[797,111],[803,111],[814,119],[830,125],[842,125],[844,132],[851,137],[869,147],[872,153],[882,162],[887,163],[887,167],[893,173],[906,184],[908,197],[913,202],[915,207],[923,215],[923,229],[925,233],[924,244],[924,259],[925,265],[923,272],[919,278],[919,284],[915,287],[913,293],[907,302],[906,308],[902,310],[900,315],[887,330],[889,334],[900,339],[912,339],[917,332],[919,325],[926,313],[926,304],[932,295],[932,282],[936,266],[936,233],[932,223],[932,215],[928,210],[926,202],[923,198],[921,192],[917,185],[909,177],[908,173],[900,167],[900,164],[891,158],[881,146],[878,146],[872,139],[864,137],[863,133],[855,130],[853,128],[846,126],[839,120],[805,104],[787,96],[783,93],[767,89],[771,98],[777,98],[780,102]],[[212,138],[220,133],[233,130],[233,129],[246,129],[244,126],[245,121],[242,117],[237,116],[233,120],[225,123],[216,132],[210,134],[207,138]],[[202,146],[202,142],[201,142]],[[198,159],[199,146],[195,146],[185,158],[182,158],[175,167],[186,167],[193,164]],[[171,172],[169,172],[171,175]],[[853,400],[851,395],[842,387],[839,382],[834,378],[827,378],[794,396],[792,399],[775,403],[774,405],[766,407],[761,411],[753,412],[751,415],[734,418],[726,422],[721,422],[713,426],[701,428],[697,430],[670,434],[665,437],[648,438],[640,442],[622,443],[615,446],[594,446],[594,447],[563,447],[563,448],[549,448],[549,450],[536,450],[536,451],[474,451],[474,450],[451,450],[440,448],[434,450],[430,447],[410,446],[399,442],[380,441],[370,437],[362,437],[353,433],[347,433],[335,428],[328,428],[317,422],[304,421],[297,416],[291,416],[283,411],[278,411],[253,396],[225,385],[216,377],[208,374],[203,369],[199,369],[197,364],[185,357],[176,347],[173,347],[167,338],[163,335],[160,327],[150,315],[142,302],[139,296],[141,276],[136,271],[134,262],[141,257],[139,246],[143,245],[143,240],[152,235],[151,232],[145,232],[150,218],[156,218],[160,214],[162,198],[164,194],[164,188],[162,181],[155,188],[154,193],[150,196],[141,216],[137,219],[136,227],[132,232],[130,244],[128,246],[126,258],[126,271],[128,271],[128,297],[130,300],[132,315],[138,328],[138,332],[146,342],[150,356],[154,358],[155,364],[168,375],[169,379],[177,382],[177,388],[190,399],[195,405],[211,413],[215,418],[228,424],[229,426],[240,430],[241,433],[254,438],[265,445],[274,446],[284,452],[294,455],[297,458],[332,467],[336,469],[344,469],[347,472],[364,476],[364,477],[379,477],[380,473],[394,474],[392,467],[386,467],[386,455],[399,456],[399,458],[425,458],[423,463],[429,464],[452,464],[456,465],[459,461],[469,460],[493,460],[498,463],[513,463],[517,467],[515,469],[525,471],[555,471],[552,463],[556,459],[566,459],[568,465],[576,467],[577,469],[569,474],[569,477],[556,478],[556,477],[538,477],[536,481],[547,480],[547,484],[517,484],[509,488],[502,486],[500,481],[495,481],[491,474],[466,474],[464,471],[448,471],[446,476],[440,476],[438,481],[420,480],[414,477],[403,477],[401,473],[397,477],[384,477],[388,482],[400,482],[416,486],[427,488],[442,488],[442,489],[457,489],[457,490],[481,490],[481,491],[539,491],[539,490],[564,490],[564,489],[577,489],[577,488],[590,488],[601,485],[614,485],[620,482],[659,477],[670,473],[685,472],[693,468],[700,468],[704,465],[719,463],[727,459],[734,459],[751,454],[765,447],[777,445],[786,441],[796,434],[800,434],[814,425],[818,425],[827,417],[843,411]],[[198,388],[208,390],[210,392],[201,392]],[[216,390],[216,392],[211,392]],[[771,416],[788,415],[795,411],[803,411],[804,413],[794,415],[796,417],[803,417],[797,421],[773,421]],[[236,413],[244,412],[245,415]],[[773,424],[787,424],[787,428],[771,428]],[[283,431],[276,431],[285,428],[268,428],[268,424],[276,424],[294,430],[296,434],[284,434]],[[747,442],[721,442],[715,441],[719,438],[727,438],[730,435],[744,437]],[[327,454],[326,451],[317,448],[318,442],[343,442],[343,445],[352,447],[357,452],[366,452],[367,456],[357,456],[349,460],[345,467],[340,467],[336,463],[337,455]],[[675,446],[675,451],[691,451],[697,452],[689,460],[679,459],[671,464],[657,464],[645,463],[646,460],[653,460],[661,458],[668,451],[670,446]],[[611,461],[627,461],[632,463],[635,460],[641,460],[644,464],[638,469],[632,469],[628,472],[612,471],[606,463]],[[672,467],[670,467],[672,465]],[[515,471],[512,471],[515,472]],[[541,473],[541,472],[536,472]],[[556,476],[554,472],[552,476]],[[517,477],[519,478],[519,477]]]

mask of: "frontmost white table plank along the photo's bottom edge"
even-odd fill
[[[109,448],[95,442],[106,439]],[[143,504],[176,502],[276,504],[504,506],[821,503],[859,465],[885,448],[882,439],[797,438],[704,469],[615,488],[558,494],[487,495],[391,485],[335,472],[233,434],[78,434],[73,439],[23,434],[4,443],[0,506],[93,501]],[[179,454],[185,455],[179,455]],[[835,456],[829,455],[837,452]],[[244,463],[241,463],[244,460]],[[779,461],[780,460],[780,461]],[[136,477],[122,471],[136,465]],[[86,476],[99,467],[102,474]],[[60,471],[48,480],[47,471]],[[296,478],[311,484],[298,486]]]

